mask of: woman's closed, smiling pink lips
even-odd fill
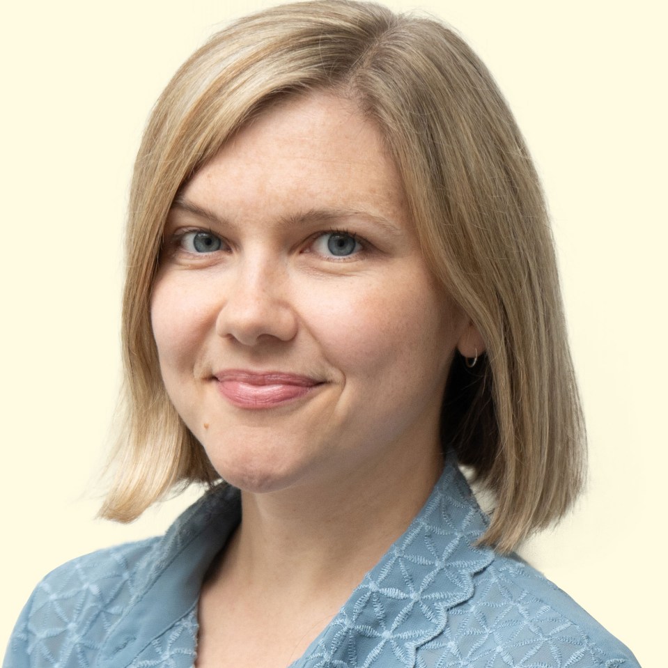
[[[273,408],[300,398],[321,383],[305,375],[266,371],[257,373],[243,369],[227,369],[215,373],[219,392],[239,408]]]

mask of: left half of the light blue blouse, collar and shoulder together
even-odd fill
[[[56,568],[20,614],[3,667],[116,666],[119,652],[139,653],[168,628],[187,630],[178,652],[189,653],[190,613],[201,580],[239,518],[237,490],[217,486],[163,536],[91,552]]]

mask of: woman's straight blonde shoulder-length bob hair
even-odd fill
[[[124,432],[101,515],[137,518],[218,475],[166,395],[150,324],[164,222],[178,190],[249,118],[286,95],[355,100],[403,178],[424,256],[478,327],[456,355],[442,440],[494,493],[483,542],[511,550],[580,490],[584,428],[541,185],[490,72],[436,20],[349,0],[277,6],[215,34],[182,65],[137,155],[123,297]]]

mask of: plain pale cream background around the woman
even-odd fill
[[[127,185],[148,111],[177,66],[216,24],[267,4],[40,0],[3,12],[0,646],[45,573],[162,531],[194,498],[127,527],[92,519],[119,378]],[[668,445],[660,4],[420,3],[492,69],[554,217],[591,476],[576,513],[523,554],[644,667],[662,665],[668,593],[665,539],[653,536],[665,531]]]

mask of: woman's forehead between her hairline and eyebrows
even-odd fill
[[[355,102],[326,93],[263,109],[180,196],[226,216],[345,206],[405,219],[401,178],[378,127]]]

